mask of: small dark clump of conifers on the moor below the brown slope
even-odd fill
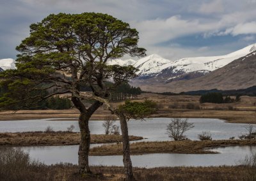
[[[226,97],[223,98],[223,94],[218,92],[206,93],[205,95],[202,95],[200,97],[200,103],[211,102],[211,103],[221,104],[221,103],[237,102],[239,100],[240,100],[240,95],[237,95],[236,99],[230,98],[230,96],[228,95],[226,95]]]

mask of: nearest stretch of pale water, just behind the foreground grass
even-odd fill
[[[21,147],[29,152],[32,159],[45,164],[70,162],[77,164],[78,146],[28,146]],[[160,166],[220,166],[236,165],[246,155],[256,152],[256,146],[229,146],[225,148],[209,149],[216,154],[180,154],[180,153],[153,153],[132,155],[132,165],[136,167],[154,168]],[[90,156],[91,165],[123,166],[122,155],[117,156]]]

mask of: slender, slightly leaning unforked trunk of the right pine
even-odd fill
[[[120,113],[118,117],[120,119],[120,125],[121,125],[121,131],[122,131],[125,180],[131,181],[131,180],[135,180],[135,178],[133,177],[133,173],[132,173],[132,161],[130,156],[130,143],[129,143],[127,122],[124,114]]]

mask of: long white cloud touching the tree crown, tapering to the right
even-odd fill
[[[132,25],[140,32],[140,41],[143,45],[166,42],[179,36],[203,33],[219,27],[214,22],[186,20],[180,16],[134,22]]]

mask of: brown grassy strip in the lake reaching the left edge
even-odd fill
[[[0,133],[0,146],[35,146],[35,145],[79,145],[79,132],[15,132]],[[143,139],[140,136],[129,136],[131,141]],[[91,143],[121,142],[120,135],[92,134]]]

